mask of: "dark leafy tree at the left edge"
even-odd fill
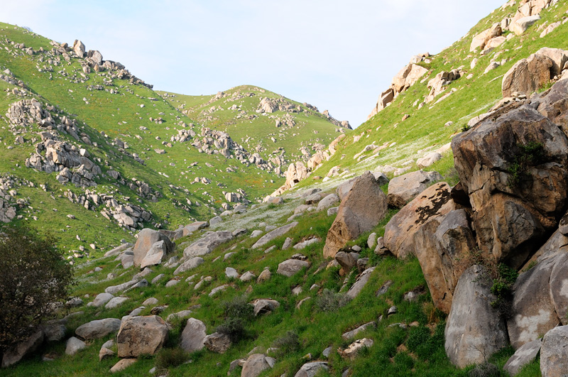
[[[0,232],[0,360],[23,341],[67,297],[72,266],[55,247],[27,226]]]

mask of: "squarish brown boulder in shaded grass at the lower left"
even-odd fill
[[[168,325],[157,315],[125,317],[116,337],[119,357],[158,352],[168,339]]]

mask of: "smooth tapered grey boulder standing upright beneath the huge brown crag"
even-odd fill
[[[459,278],[446,324],[445,349],[452,364],[481,364],[508,344],[507,329],[491,307],[491,280],[486,268],[471,266]]]

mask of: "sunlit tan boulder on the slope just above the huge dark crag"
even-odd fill
[[[545,55],[532,54],[516,62],[503,76],[503,97],[512,97],[514,92],[530,95],[550,81],[552,60]]]

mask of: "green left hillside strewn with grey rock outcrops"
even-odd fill
[[[6,23],[0,35],[0,171],[3,192],[16,192],[0,217],[53,232],[70,256],[100,256],[142,226],[176,229],[209,219],[255,202],[282,180],[280,153],[273,158],[252,142],[244,146],[233,129],[208,130],[99,51]],[[337,127],[309,114],[294,130],[283,126],[295,140],[273,146],[292,148],[297,138],[310,150],[327,145]],[[247,128],[265,138],[263,129]]]

